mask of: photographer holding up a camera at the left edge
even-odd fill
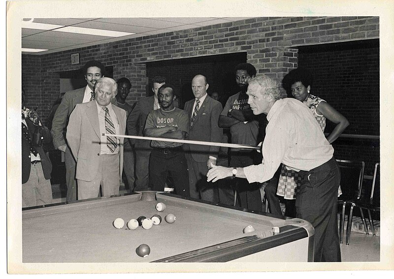
[[[52,203],[52,163],[42,149],[51,140],[36,110],[26,108],[22,90],[22,207]]]

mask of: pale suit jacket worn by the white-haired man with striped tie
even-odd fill
[[[119,121],[120,134],[126,130],[126,111],[112,105]],[[76,179],[92,181],[99,168],[100,155],[100,128],[96,101],[77,104],[72,111],[66,133],[67,143],[72,155],[77,160]],[[123,170],[123,139],[120,138],[120,165],[107,166],[118,167],[120,178]],[[119,178],[119,179],[120,179]]]

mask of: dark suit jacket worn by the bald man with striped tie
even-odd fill
[[[185,103],[185,111],[190,119],[192,119],[194,102],[195,99],[192,99]],[[219,101],[207,95],[202,105],[200,105],[193,127],[190,126],[189,140],[222,142],[223,129],[218,126],[222,109],[222,104]],[[218,158],[218,146],[195,144],[185,144],[184,146],[185,151],[190,152],[197,162],[207,162],[209,156]]]

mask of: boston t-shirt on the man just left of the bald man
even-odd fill
[[[162,128],[167,126],[175,126],[178,131],[184,131],[189,134],[189,116],[184,111],[175,107],[171,111],[163,111],[162,109],[152,110],[146,119],[146,128]],[[178,142],[152,141],[152,147],[173,148],[183,145]]]

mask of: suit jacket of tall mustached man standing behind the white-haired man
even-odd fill
[[[51,133],[55,149],[66,144],[66,127],[68,125],[68,118],[74,110],[75,105],[82,103],[85,89],[86,87],[67,91],[63,96],[62,102],[57,108],[52,121]],[[116,105],[116,98],[113,98],[111,103]]]

